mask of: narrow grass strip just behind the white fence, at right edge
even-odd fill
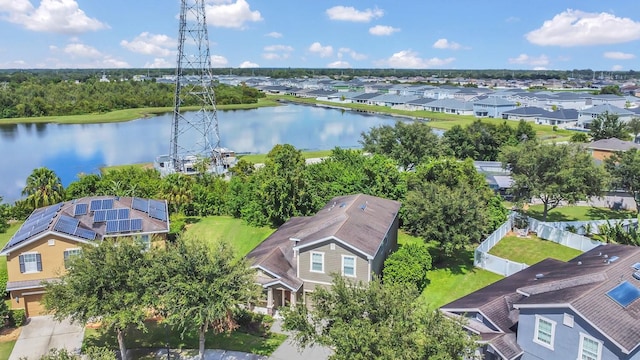
[[[542,220],[543,206],[531,205],[525,213],[532,218]],[[549,211],[547,221],[578,221],[578,220],[604,220],[604,219],[628,219],[636,217],[635,211],[612,210],[593,206],[562,206]]]

